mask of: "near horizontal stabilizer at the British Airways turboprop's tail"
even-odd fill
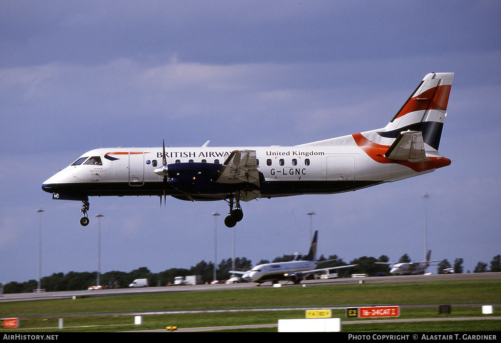
[[[427,159],[421,131],[400,132],[384,156],[388,159],[421,162]]]

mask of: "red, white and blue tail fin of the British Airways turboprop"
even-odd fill
[[[397,138],[403,131],[422,132],[423,141],[438,150],[454,73],[426,75],[380,136]]]

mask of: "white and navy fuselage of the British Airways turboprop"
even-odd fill
[[[167,148],[167,163],[201,162],[221,164],[238,147]],[[354,191],[387,181],[405,179],[433,171],[436,161],[421,163],[414,170],[399,163],[379,163],[361,148],[336,146],[250,147],[256,150],[258,170],[264,176],[261,197],[298,194],[333,194]],[[164,187],[153,171],[162,165],[162,148],[100,148],[82,155],[98,156],[100,164],[84,160],[59,171],[42,186],[61,196],[179,196],[185,192]],[[449,161],[450,163],[450,161]],[[165,193],[164,193],[165,191]],[[224,199],[227,192],[193,194],[195,200]],[[199,197],[200,199],[196,199]]]

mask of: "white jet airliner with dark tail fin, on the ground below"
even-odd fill
[[[349,268],[354,267],[356,264],[351,264],[347,266],[338,266],[338,267],[328,267],[328,268],[320,268],[315,269],[319,263],[328,262],[328,261],[317,261],[317,236],[318,231],[315,231],[315,235],[313,236],[312,244],[310,247],[310,251],[308,255],[304,256],[301,260],[294,260],[290,262],[279,262],[279,263],[265,263],[259,264],[256,267],[252,268],[250,272],[238,272],[238,271],[230,271],[230,273],[248,273],[248,277],[261,285],[263,282],[272,281],[272,283],[277,283],[279,280],[291,280],[295,284],[298,284],[303,280],[305,275],[326,271],[331,269],[341,269],[341,268]],[[296,256],[297,258],[298,256]]]

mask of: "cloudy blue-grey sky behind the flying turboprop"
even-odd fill
[[[434,173],[357,192],[243,204],[236,256],[501,253],[497,1],[22,1],[0,6],[0,282],[152,272],[231,257],[226,203],[54,201],[41,185],[97,147],[296,145],[384,127],[429,72],[454,72]],[[429,198],[425,200],[424,194]],[[36,211],[43,209],[41,215]],[[221,214],[216,220],[211,213]],[[426,214],[426,216],[425,216]],[[427,224],[425,225],[425,217]],[[436,272],[432,267],[431,271]]]

